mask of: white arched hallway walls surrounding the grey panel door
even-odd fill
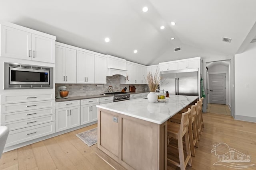
[[[224,65],[213,65],[211,67],[208,67],[208,89],[210,89],[210,81],[209,81],[209,78],[210,78],[210,74],[221,74],[221,73],[224,73],[226,74],[226,104],[230,103],[228,101],[228,91],[230,89],[230,86],[228,86],[229,82],[229,74],[228,74],[228,67],[227,66],[224,66]],[[210,95],[208,95],[208,103],[210,102]]]

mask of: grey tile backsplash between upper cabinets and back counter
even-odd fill
[[[136,92],[142,92],[148,90],[148,85],[145,84],[130,84],[136,87]],[[108,86],[113,86],[114,92],[121,92],[123,88],[127,88],[126,92],[129,92],[129,84],[120,84],[120,75],[108,76],[107,84],[103,84],[103,87],[97,87],[96,84],[55,84],[55,96],[57,96],[57,87],[66,86],[69,91],[68,97],[75,96],[90,96],[101,93],[107,93]]]

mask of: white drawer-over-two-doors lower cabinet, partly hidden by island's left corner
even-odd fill
[[[98,120],[99,98],[81,100],[81,125]]]

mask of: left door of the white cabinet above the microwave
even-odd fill
[[[31,60],[31,33],[2,25],[1,56]]]

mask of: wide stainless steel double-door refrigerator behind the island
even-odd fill
[[[169,94],[198,96],[198,69],[161,71],[160,90]]]

